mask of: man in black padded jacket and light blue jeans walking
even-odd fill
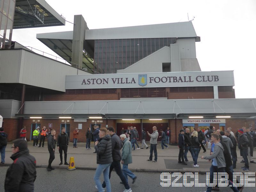
[[[94,182],[96,184],[96,188],[98,191],[103,191],[100,175],[103,173],[104,181],[106,184],[107,192],[111,192],[111,185],[109,181],[109,168],[111,163],[113,162],[112,158],[112,144],[111,137],[107,135],[106,128],[100,128],[99,131],[99,140],[95,141],[95,151],[97,153],[97,164],[98,167],[96,169],[94,175]],[[105,190],[104,190],[105,191]]]

